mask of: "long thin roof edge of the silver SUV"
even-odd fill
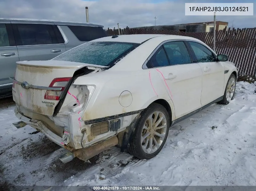
[[[0,18],[0,23],[26,23],[26,24],[56,24],[56,25],[76,25],[76,26],[88,26],[88,27],[104,27],[103,25],[82,23],[82,22],[69,22],[69,21],[53,21],[43,19],[27,19],[27,18]]]

